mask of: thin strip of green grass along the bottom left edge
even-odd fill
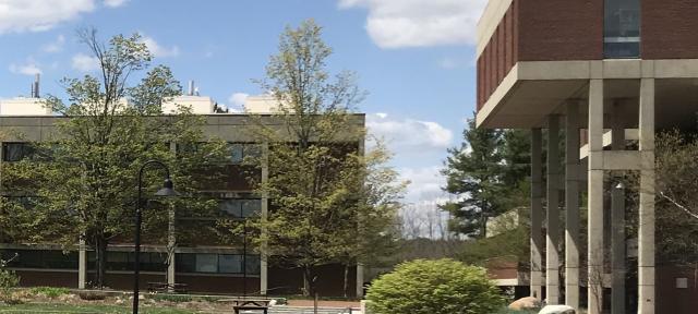
[[[19,304],[0,305],[0,313],[75,313],[75,314],[125,314],[131,313],[130,306],[116,305],[63,305],[63,304]],[[172,307],[141,306],[139,313],[144,314],[192,314],[196,312]]]

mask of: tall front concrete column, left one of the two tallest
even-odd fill
[[[589,82],[588,313],[603,304],[603,80]]]

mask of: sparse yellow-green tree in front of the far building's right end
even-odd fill
[[[267,145],[256,164],[269,173],[255,182],[269,197],[256,241],[281,264],[301,268],[311,295],[317,266],[369,261],[378,243],[390,242],[404,188],[384,166],[389,155],[382,145],[364,154],[362,118],[351,113],[363,93],[353,73],[330,78],[330,53],[313,21],[287,27],[261,82],[280,105],[277,123],[252,118],[253,136]]]

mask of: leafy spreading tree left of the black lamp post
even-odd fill
[[[79,239],[94,247],[97,288],[105,286],[107,247],[113,239],[132,234],[137,170],[158,159],[170,166],[177,189],[191,195],[169,206],[204,213],[215,202],[197,194],[206,180],[206,165],[220,160],[222,145],[203,142],[204,120],[185,109],[169,118],[161,105],[181,94],[167,67],[157,65],[132,85],[133,75],[149,68],[152,56],[140,35],[118,35],[107,44],[95,29],[79,32],[99,63],[98,76],[63,78],[68,102],[49,96],[46,106],[65,119],[56,122],[53,138],[34,145],[32,158],[3,168],[3,188],[12,197],[3,202],[13,215],[17,241],[58,242],[74,247]],[[196,152],[177,155],[169,143],[197,145]],[[161,173],[147,172],[146,194],[161,186]],[[27,206],[27,196],[31,206]],[[183,205],[185,202],[185,206]],[[10,208],[8,208],[8,206]],[[144,234],[166,239],[168,215],[144,212]]]

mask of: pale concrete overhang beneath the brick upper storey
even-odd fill
[[[695,126],[698,60],[522,61],[500,83],[477,114],[480,128],[544,128],[568,101],[587,102],[589,80],[603,78],[606,104],[625,104],[626,129],[637,128],[640,78],[657,78],[657,125]],[[582,106],[582,128],[586,106]]]

